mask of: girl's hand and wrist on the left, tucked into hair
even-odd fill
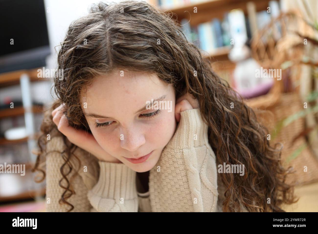
[[[67,137],[67,139],[77,145],[79,148],[92,153],[101,161],[121,163],[120,160],[108,154],[97,143],[93,134],[82,129],[75,129],[68,124],[67,118],[63,115],[64,103],[59,105],[52,111],[53,122],[58,127],[58,130]]]

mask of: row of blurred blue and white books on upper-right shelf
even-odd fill
[[[189,19],[183,18],[180,23],[188,41],[197,45],[201,50],[213,54],[222,47],[245,44],[252,38],[255,30],[260,30],[268,25],[271,18],[276,17],[280,11],[277,1],[270,1],[269,5],[270,11],[256,12],[256,8],[250,4],[248,16],[245,16],[242,9],[233,9],[225,12],[222,19],[207,18],[206,22],[190,25]]]

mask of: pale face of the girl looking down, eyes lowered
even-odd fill
[[[104,151],[136,172],[156,165],[176,130],[171,84],[155,74],[118,70],[95,77],[82,97],[87,123]],[[149,153],[147,160],[136,160]]]

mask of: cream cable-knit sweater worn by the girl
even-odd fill
[[[75,194],[66,201],[74,206],[72,212],[221,212],[223,191],[218,192],[216,158],[207,134],[208,126],[199,109],[181,112],[174,136],[149,172],[149,191],[143,194],[137,192],[135,171],[123,163],[100,161],[77,148],[74,155],[78,160],[72,156],[73,170],[67,175]],[[47,143],[48,212],[65,212],[70,208],[59,204],[65,192],[59,181],[67,187],[60,173],[65,163],[60,152],[65,147],[62,136]],[[64,173],[68,172],[65,167]]]

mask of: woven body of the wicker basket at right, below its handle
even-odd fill
[[[256,114],[259,121],[265,125],[271,133],[274,133],[275,125],[279,123],[280,120],[300,110],[304,110],[304,108],[298,94],[291,92],[283,93],[279,101],[275,103],[275,105],[268,107],[267,110],[269,112],[256,111]],[[292,159],[293,153],[300,150],[301,147],[306,144],[304,137],[297,138],[297,140],[293,141],[304,129],[305,120],[299,118],[286,127],[283,127],[277,136],[271,140],[271,145],[278,142],[283,144],[281,155],[283,165],[285,167],[294,167],[295,174],[287,178],[288,183],[307,184],[318,181],[318,162],[309,147],[306,147],[296,158]],[[307,166],[307,172],[304,172],[304,166]]]

